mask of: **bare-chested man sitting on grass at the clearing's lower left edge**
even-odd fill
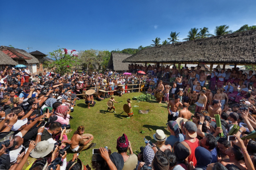
[[[71,151],[79,153],[86,150],[87,148],[95,147],[96,143],[92,143],[93,135],[84,134],[84,126],[79,126],[77,131],[73,134],[71,138]]]

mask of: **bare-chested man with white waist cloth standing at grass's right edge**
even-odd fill
[[[171,106],[171,109],[170,109]],[[182,103],[180,102],[180,97],[178,95],[174,96],[174,100],[170,100],[167,109],[168,109],[168,121],[175,121],[177,117],[179,116],[179,109],[182,106]]]

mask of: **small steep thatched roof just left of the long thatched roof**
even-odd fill
[[[107,69],[112,69],[115,71],[128,70],[129,63],[124,63],[122,61],[131,56],[132,54],[111,53]]]

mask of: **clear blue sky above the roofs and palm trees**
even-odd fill
[[[45,54],[57,48],[115,50],[161,42],[171,31],[256,25],[256,1],[1,1],[0,45]]]

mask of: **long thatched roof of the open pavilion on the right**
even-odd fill
[[[123,62],[256,64],[256,30],[146,48]]]

